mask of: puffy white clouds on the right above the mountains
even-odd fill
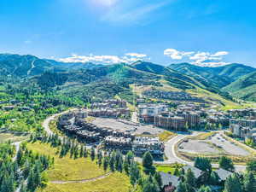
[[[228,55],[227,51],[210,52],[195,52],[195,51],[178,51],[177,49],[166,49],[164,55],[170,56],[173,60],[189,60],[192,64],[203,67],[217,67],[229,64],[224,62],[224,55]]]

